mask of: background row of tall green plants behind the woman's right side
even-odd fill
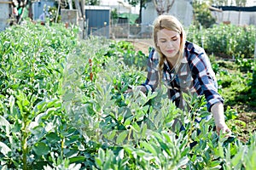
[[[190,26],[188,39],[206,49],[208,54],[234,58],[253,59],[255,42],[255,26],[213,25],[211,28]]]

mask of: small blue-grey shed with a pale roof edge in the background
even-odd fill
[[[88,34],[109,37],[110,14],[109,7],[85,6]]]

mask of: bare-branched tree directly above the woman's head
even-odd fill
[[[172,3],[171,0],[153,0],[154,8],[158,15],[169,13],[174,2],[175,0],[172,0]]]

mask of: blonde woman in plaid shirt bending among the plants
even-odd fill
[[[218,94],[207,54],[203,48],[186,41],[182,24],[172,15],[160,15],[154,20],[154,48],[148,58],[148,77],[137,88],[147,93],[161,82],[177,107],[184,106],[183,93],[205,95],[217,132],[230,133],[224,120],[224,99]]]

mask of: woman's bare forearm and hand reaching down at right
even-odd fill
[[[220,130],[222,130],[223,133],[230,134],[230,128],[226,125],[224,119],[224,105],[221,102],[212,105],[211,112],[214,118],[217,133],[219,134]]]

